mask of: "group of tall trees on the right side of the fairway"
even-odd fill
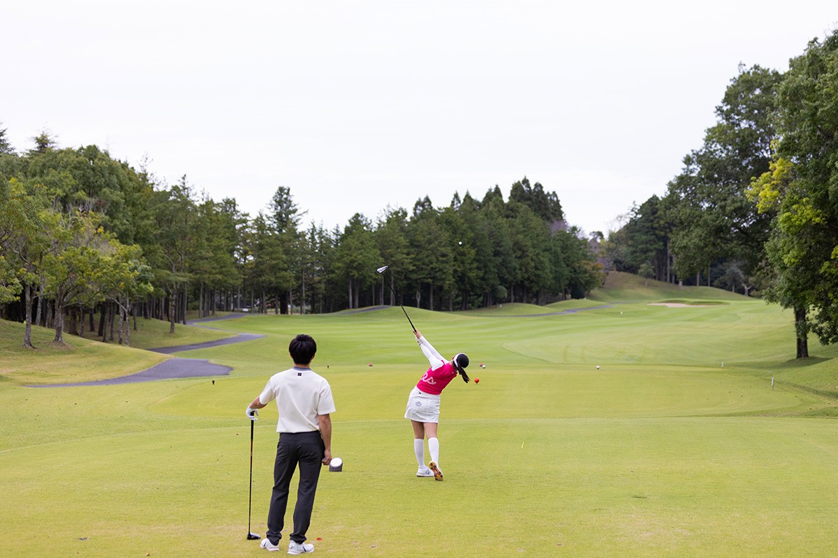
[[[635,204],[608,235],[608,267],[792,309],[799,358],[810,332],[838,341],[836,87],[838,31],[784,73],[740,65],[665,196]]]

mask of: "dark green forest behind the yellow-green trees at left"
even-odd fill
[[[334,231],[303,229],[305,212],[288,187],[278,187],[267,212],[251,218],[235,199],[199,199],[185,176],[173,185],[155,183],[145,169],[107,151],[60,149],[46,133],[25,154],[0,153],[0,178],[7,187],[16,180],[27,197],[37,195],[39,207],[95,218],[102,233],[126,247],[131,269],[152,282],[142,308],[142,285],[63,299],[71,313],[100,308],[102,320],[111,300],[121,305],[121,318],[142,311],[168,319],[170,330],[185,321],[187,309],[204,316],[242,308],[306,313],[376,304],[433,310],[544,304],[584,296],[602,280],[587,240],[562,228],[556,193],[526,178],[512,185],[509,202],[497,186],[482,202],[455,192],[450,205],[434,207],[424,197],[410,215],[388,208],[374,224],[355,214]],[[382,265],[388,272],[375,274]],[[20,292],[10,269],[10,259],[3,259],[6,300]],[[24,284],[38,298],[39,268],[28,269]],[[100,333],[107,337],[102,325]]]

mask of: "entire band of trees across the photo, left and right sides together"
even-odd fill
[[[838,32],[783,73],[740,65],[665,195],[635,204],[608,238],[568,228],[556,193],[526,178],[505,200],[497,186],[444,207],[425,197],[328,230],[303,225],[287,187],[251,217],[185,176],[168,185],[46,134],[17,153],[0,130],[0,313],[54,326],[58,341],[67,318],[73,333],[128,342],[137,315],[173,330],[188,310],[545,304],[617,269],[779,303],[808,356],[810,333],[838,341],[836,76]]]

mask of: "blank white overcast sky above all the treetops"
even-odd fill
[[[573,4],[573,5],[568,5]],[[2,0],[0,128],[96,144],[304,223],[526,176],[586,232],[662,195],[740,62],[788,69],[825,0]]]

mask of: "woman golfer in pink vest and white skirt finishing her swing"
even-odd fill
[[[416,335],[416,342],[419,343],[422,353],[431,363],[431,367],[411,390],[405,412],[405,418],[409,418],[413,426],[413,451],[416,453],[416,462],[419,463],[416,476],[432,476],[434,479],[442,480],[442,470],[439,468],[439,440],[437,439],[440,395],[458,374],[463,376],[463,381],[468,383],[468,376],[464,370],[468,366],[468,356],[458,353],[451,361],[446,361],[422,337],[422,333],[414,330],[413,335]],[[425,465],[426,436],[427,448],[431,452],[431,462],[427,466]]]

